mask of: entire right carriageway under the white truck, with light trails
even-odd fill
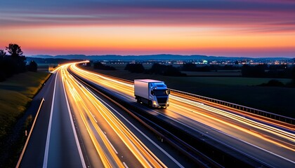
[[[126,101],[135,102],[133,83],[85,71],[75,65],[70,69],[82,78],[116,92]],[[171,104],[167,109],[143,108],[159,118],[181,123],[191,132],[215,139],[269,167],[295,166],[294,127],[282,127],[277,123],[241,116],[238,114],[240,111],[232,113],[223,106],[208,106],[192,100],[192,97],[171,94],[170,98]]]

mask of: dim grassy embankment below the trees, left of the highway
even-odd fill
[[[0,140],[22,116],[29,102],[49,76],[46,72],[26,72],[0,83]]]

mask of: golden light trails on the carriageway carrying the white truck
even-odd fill
[[[96,83],[101,87],[105,87],[108,90],[112,90],[119,94],[125,94],[126,97],[133,98],[133,85],[131,83],[124,82],[124,80],[118,80],[117,78],[112,78],[110,76],[103,76],[102,74],[85,71],[76,65],[70,66],[70,69],[78,76]],[[212,106],[200,104],[199,102],[190,100],[192,97],[184,95],[182,95],[182,97],[171,95],[170,98],[171,104],[169,109],[176,109],[177,112],[168,109],[165,111],[165,114],[168,116],[171,115],[171,113],[178,113],[181,116],[188,117],[201,123],[202,120],[199,120],[199,116],[203,116],[206,120],[210,120],[212,123],[217,122],[216,125],[227,125],[228,127],[231,127],[231,130],[226,130],[226,133],[235,135],[236,132],[239,132],[239,139],[242,139],[243,141],[248,141],[249,139],[259,139],[259,141],[265,141],[265,143],[267,142],[275,146],[281,146],[282,148],[294,152],[295,136],[292,127],[287,127],[287,129],[290,130],[290,132],[287,132],[278,128],[280,125],[277,123],[271,123],[272,125],[277,126],[273,127],[272,125],[267,124],[269,121],[267,123],[260,123],[256,120],[251,120],[251,118],[244,118],[236,113],[225,111],[223,108],[217,109]],[[135,102],[134,98],[132,101]],[[194,113],[197,114],[197,116]],[[253,118],[253,116],[251,117]],[[178,118],[176,118],[176,120],[178,120]],[[261,119],[259,118],[258,120]],[[220,129],[214,125],[211,125],[211,127],[214,127],[216,130]],[[244,132],[244,134],[242,135],[240,131]],[[255,140],[252,140],[252,143],[256,143]],[[261,144],[255,145],[263,148]]]

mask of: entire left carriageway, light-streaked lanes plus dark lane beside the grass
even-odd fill
[[[188,167],[122,109],[60,66],[41,90],[42,106],[20,167]]]

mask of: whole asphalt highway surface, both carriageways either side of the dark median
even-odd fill
[[[137,104],[133,83],[60,66],[35,99],[44,97],[20,167],[192,167],[122,109],[73,78],[110,90],[147,113],[202,134],[269,167],[294,167],[294,130],[171,94],[167,109]],[[274,126],[275,125],[275,126]]]

